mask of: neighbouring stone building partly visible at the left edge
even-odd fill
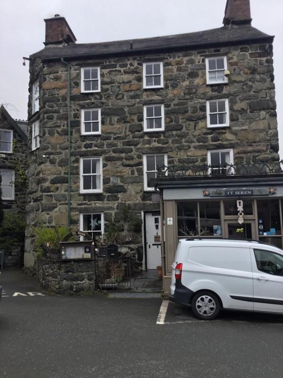
[[[26,171],[28,149],[28,122],[14,120],[3,105],[0,106],[0,174],[2,204],[5,214],[22,217],[26,210]],[[4,248],[4,267],[23,265],[24,235],[15,229],[18,237],[0,235]]]

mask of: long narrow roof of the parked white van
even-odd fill
[[[247,245],[249,247],[254,247],[254,248],[258,248],[258,247],[268,247],[268,248],[271,248],[271,249],[274,249],[274,250],[280,250],[281,252],[283,252],[280,248],[276,247],[276,246],[273,246],[269,243],[265,243],[265,242],[261,242],[259,240],[241,240],[241,239],[215,239],[215,238],[184,238],[184,239],[179,239],[179,242],[180,243],[188,243],[188,244],[195,244],[196,242],[198,242],[198,244],[203,244],[203,245],[211,245],[211,244],[218,244],[218,245],[234,245],[234,246],[237,246],[237,247],[247,247]]]

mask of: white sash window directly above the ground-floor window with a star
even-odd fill
[[[81,158],[81,193],[102,193],[102,158]]]

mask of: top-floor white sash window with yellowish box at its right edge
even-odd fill
[[[226,57],[206,58],[205,64],[207,84],[223,84],[228,82],[228,79],[224,75],[227,69]]]

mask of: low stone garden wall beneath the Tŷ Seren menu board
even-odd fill
[[[95,291],[94,261],[37,259],[37,278],[45,290],[57,293]]]

